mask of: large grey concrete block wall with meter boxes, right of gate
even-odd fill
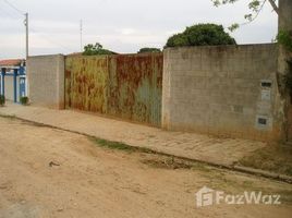
[[[162,128],[280,138],[277,50],[275,44],[166,49]]]

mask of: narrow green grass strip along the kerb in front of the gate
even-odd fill
[[[147,154],[155,154],[155,152],[148,149],[148,148],[143,148],[143,147],[133,147],[131,145],[126,145],[121,142],[112,142],[112,141],[107,141],[107,140],[101,140],[101,138],[96,138],[96,137],[89,137],[90,141],[93,141],[96,145],[100,147],[106,147],[109,149],[118,149],[118,150],[123,150],[127,153],[147,153]]]

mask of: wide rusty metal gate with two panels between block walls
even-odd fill
[[[160,126],[162,65],[162,53],[69,56],[65,107]]]

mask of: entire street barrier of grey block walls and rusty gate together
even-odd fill
[[[29,57],[29,98],[167,130],[277,141],[283,135],[277,53],[269,44]]]

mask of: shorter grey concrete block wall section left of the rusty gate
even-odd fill
[[[28,97],[32,105],[64,108],[64,57],[36,56],[27,59]]]

